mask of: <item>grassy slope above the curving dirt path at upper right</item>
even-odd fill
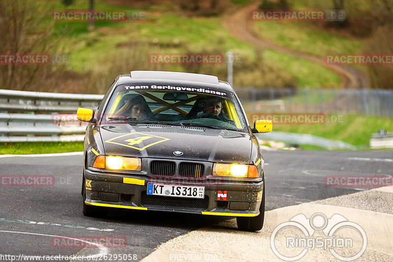
[[[333,9],[332,1],[290,1],[291,9]],[[356,10],[370,8],[364,0],[354,0],[349,6]],[[362,7],[360,7],[362,6]],[[347,6],[348,7],[348,6]],[[349,9],[349,10],[348,10]],[[347,18],[353,17],[347,8]],[[326,26],[313,21],[254,21],[253,31],[260,37],[290,50],[324,58],[328,54],[362,53],[367,39],[351,35],[351,29]],[[365,66],[354,65],[365,70]]]

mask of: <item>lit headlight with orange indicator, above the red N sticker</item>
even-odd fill
[[[255,165],[214,163],[213,176],[258,178],[259,174]]]

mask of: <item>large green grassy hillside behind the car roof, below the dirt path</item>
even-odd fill
[[[237,2],[244,4],[248,1]],[[52,10],[80,10],[87,7],[84,0],[75,0],[67,7],[61,1],[49,4],[41,0],[40,3],[46,4],[48,14]],[[110,5],[107,1],[96,0],[95,9],[130,10],[135,7]],[[93,31],[87,30],[87,22],[56,22],[57,29],[68,30],[63,43],[67,43],[67,50],[71,54],[69,69],[81,74],[90,71],[96,76],[102,76],[102,79],[92,77],[91,82],[105,85],[105,88],[116,75],[127,74],[131,70],[199,72],[215,74],[226,80],[225,63],[200,67],[152,65],[147,62],[147,55],[184,52],[225,54],[230,50],[244,57],[243,64],[238,65],[238,68],[235,65],[234,68],[234,83],[237,86],[274,87],[280,84],[280,80],[286,85],[298,87],[331,88],[339,85],[338,76],[322,65],[272,50],[258,51],[252,45],[234,39],[223,28],[221,16],[185,16],[167,3],[140,6],[138,9],[146,12],[146,21],[97,22]],[[116,70],[112,69],[113,66]],[[90,92],[94,92],[94,88],[90,88]],[[95,92],[102,93],[103,90],[96,88]]]

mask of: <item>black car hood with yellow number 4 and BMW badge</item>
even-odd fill
[[[251,135],[237,131],[162,126],[102,126],[106,155],[249,163]]]

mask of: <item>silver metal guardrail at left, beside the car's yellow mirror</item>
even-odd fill
[[[97,108],[102,98],[0,89],[0,142],[83,141],[86,125],[76,120],[76,110]],[[58,117],[64,113],[74,116],[65,122]]]

